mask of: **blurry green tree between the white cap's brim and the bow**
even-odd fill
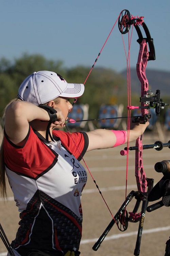
[[[69,82],[84,83],[90,68],[78,66],[68,70]],[[80,103],[89,104],[89,118],[97,118],[101,104],[120,104],[124,94],[125,81],[111,69],[95,68],[85,83],[85,92],[78,99]]]

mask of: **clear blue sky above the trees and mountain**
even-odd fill
[[[114,0],[1,0],[0,58],[10,60],[23,53],[63,60],[65,67],[91,67],[119,13],[128,9],[144,16],[154,39],[156,60],[148,68],[170,70],[170,1]],[[127,39],[127,36],[124,36]],[[131,66],[137,62],[139,45],[134,29]],[[152,62],[152,63],[151,63]],[[126,59],[116,24],[96,66],[122,71]]]

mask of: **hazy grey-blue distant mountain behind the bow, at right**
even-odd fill
[[[126,79],[126,70],[120,74]],[[170,72],[158,70],[146,70],[146,77],[149,81],[149,89],[155,94],[156,90],[160,90],[161,97],[163,95],[170,95]],[[140,81],[137,77],[136,69],[131,69],[131,93],[139,93],[141,88]]]

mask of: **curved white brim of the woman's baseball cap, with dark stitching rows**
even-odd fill
[[[60,97],[77,98],[84,93],[84,84],[67,84],[67,88],[61,93]]]

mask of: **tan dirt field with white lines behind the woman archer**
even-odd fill
[[[143,143],[153,144],[156,140],[152,134],[149,134],[147,137],[144,136]],[[134,143],[131,143],[132,145]],[[84,157],[113,215],[116,214],[125,200],[126,156],[120,155],[122,148],[122,146],[119,146],[107,150],[96,150],[88,152]],[[154,149],[143,151],[143,163],[147,177],[153,178],[155,183],[158,182],[162,178],[162,174],[154,170],[154,165],[158,161],[169,159],[170,149],[168,147],[163,148],[162,151]],[[131,151],[129,154],[128,194],[131,190],[137,190],[134,166],[135,152]],[[8,240],[11,242],[15,238],[18,228],[19,213],[13,198],[11,198],[12,193],[10,190],[8,197],[9,200],[7,202],[0,201],[0,223]],[[127,207],[128,212],[133,210],[135,202],[136,199],[133,198]],[[81,256],[130,256],[134,254],[139,222],[129,223],[128,229],[124,232],[119,231],[117,226],[114,225],[98,251],[92,250],[92,246],[112,220],[112,216],[90,175],[88,175],[88,182],[83,190],[82,207],[83,237],[80,246]],[[140,209],[141,207],[139,211]],[[170,236],[169,211],[170,209],[164,206],[151,213],[146,212],[140,256],[164,256],[165,243]],[[6,252],[5,246],[0,240],[0,256],[5,256]]]

